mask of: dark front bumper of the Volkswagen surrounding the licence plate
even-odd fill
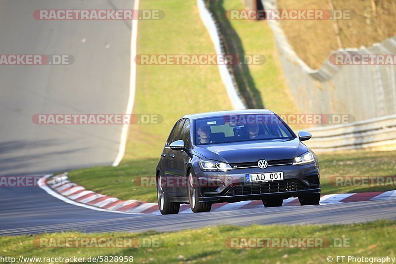
[[[246,182],[247,174],[283,172],[284,180],[262,183]],[[245,168],[225,173],[196,172],[198,177],[221,179],[223,186],[201,186],[200,202],[239,202],[280,197],[301,197],[320,193],[320,173],[317,163],[307,165],[281,165],[261,170]]]

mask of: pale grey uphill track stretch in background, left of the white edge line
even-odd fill
[[[32,116],[125,113],[131,21],[36,20],[33,12],[133,5],[133,0],[0,0],[0,54],[75,58],[71,65],[0,66],[0,175],[47,174],[114,162],[121,125],[35,125]]]

